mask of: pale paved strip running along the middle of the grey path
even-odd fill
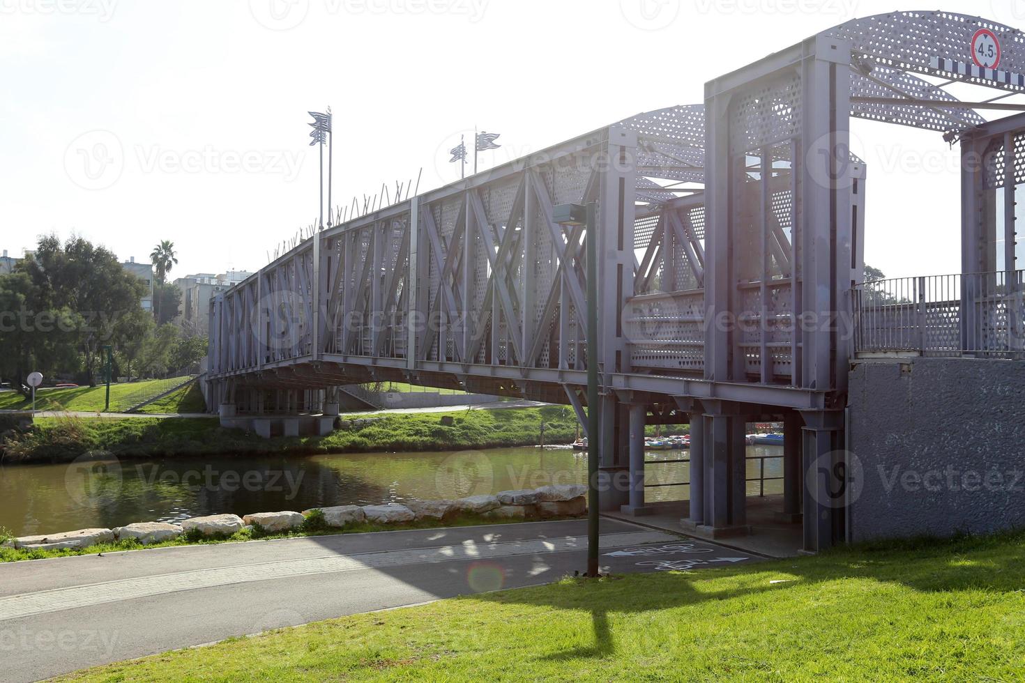
[[[665,542],[674,540],[674,538],[661,531],[609,533],[601,537],[601,545],[612,548]],[[358,555],[329,555],[240,566],[191,569],[2,597],[0,598],[0,622],[32,614],[90,607],[109,602],[232,584],[289,579],[317,573],[356,571],[367,568],[570,552],[584,550],[586,547],[587,537],[578,536],[555,540],[509,541],[484,545],[469,543],[440,548],[395,550]]]

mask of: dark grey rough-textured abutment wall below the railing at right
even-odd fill
[[[1025,526],[1025,361],[859,361],[854,541]]]

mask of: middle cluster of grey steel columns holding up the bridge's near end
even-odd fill
[[[717,402],[717,401],[715,401]],[[744,416],[725,405],[706,405],[708,411],[701,420],[701,519],[681,520],[684,528],[696,536],[721,539],[750,533],[747,525],[747,461],[744,441]],[[694,447],[691,421],[691,444]],[[696,463],[691,462],[691,481],[694,481]],[[692,515],[694,489],[691,484]]]

